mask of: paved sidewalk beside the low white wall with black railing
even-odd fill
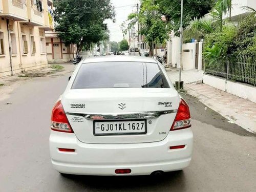
[[[220,113],[230,123],[236,123],[256,134],[256,103],[212,88],[206,84],[185,84],[189,95]],[[206,109],[207,110],[207,109]]]

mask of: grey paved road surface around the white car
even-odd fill
[[[69,75],[34,78],[0,101],[0,191],[255,191],[255,136],[186,95],[195,148],[182,172],[161,178],[60,176],[50,164],[49,123]]]

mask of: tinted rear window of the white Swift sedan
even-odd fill
[[[157,63],[95,62],[79,69],[72,89],[169,88]]]

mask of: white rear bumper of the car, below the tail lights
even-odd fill
[[[185,147],[169,149],[177,145]],[[75,152],[60,152],[58,148],[71,148]],[[76,175],[117,175],[116,169],[125,168],[132,172],[124,175],[180,170],[189,165],[192,150],[191,129],[172,131],[159,142],[134,144],[88,144],[80,142],[75,134],[55,131],[50,136],[53,167],[60,173]]]

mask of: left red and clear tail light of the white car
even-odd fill
[[[52,110],[51,120],[52,130],[59,132],[74,133],[60,101],[58,101],[55,104]]]

